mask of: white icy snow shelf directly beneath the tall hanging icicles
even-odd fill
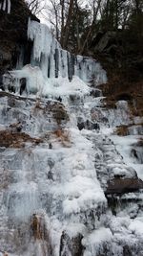
[[[90,93],[89,86],[81,81],[78,77],[74,76],[72,81],[68,78],[48,79],[44,77],[41,69],[37,66],[32,67],[26,65],[22,70],[15,70],[11,75],[17,79],[16,91],[20,92],[20,79],[27,79],[27,93],[37,94],[37,96],[45,97],[59,97],[69,95],[84,95]]]

